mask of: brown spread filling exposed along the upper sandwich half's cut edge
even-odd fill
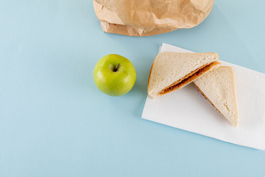
[[[176,89],[180,89],[183,86],[191,83],[192,81],[194,81],[195,79],[197,79],[201,75],[203,75],[205,72],[211,70],[212,67],[215,67],[216,65],[219,65],[219,64],[220,63],[217,62],[217,61],[213,61],[213,62],[211,62],[209,64],[205,64],[205,65],[199,67],[198,69],[192,71],[191,73],[187,74],[182,79],[174,82],[173,84],[171,84],[170,86],[166,87],[165,89],[162,89],[158,94],[159,95],[163,95],[163,94],[169,93],[171,91],[174,91]]]

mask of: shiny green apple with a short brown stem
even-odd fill
[[[93,76],[97,88],[103,93],[121,96],[132,89],[136,72],[129,59],[109,54],[97,62]]]

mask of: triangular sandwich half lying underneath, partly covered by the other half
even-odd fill
[[[233,126],[238,126],[235,75],[232,67],[220,66],[193,83],[217,111]]]

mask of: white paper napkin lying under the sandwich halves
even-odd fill
[[[164,44],[159,52],[191,52]],[[221,61],[235,72],[238,128],[204,98],[193,83],[157,99],[147,96],[142,118],[222,141],[265,150],[265,74]]]

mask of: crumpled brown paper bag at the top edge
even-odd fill
[[[149,36],[199,25],[214,0],[94,0],[105,32]]]

